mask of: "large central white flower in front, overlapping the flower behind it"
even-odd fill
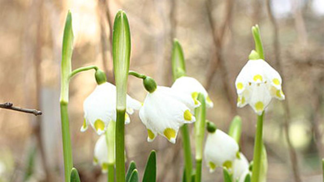
[[[179,127],[196,121],[191,113],[195,107],[198,104],[194,103],[191,96],[169,87],[157,86],[154,92],[147,93],[139,112],[142,123],[147,128],[147,141],[152,142],[160,134],[174,144]]]

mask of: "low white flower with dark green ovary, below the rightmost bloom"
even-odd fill
[[[219,166],[231,169],[237,158],[238,145],[232,137],[216,129],[214,133],[207,135],[204,154],[210,172],[214,172]]]

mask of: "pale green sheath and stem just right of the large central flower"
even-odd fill
[[[205,138],[206,125],[206,102],[202,93],[198,94],[197,100],[201,103],[200,107],[195,109],[195,144],[196,144],[196,175],[195,182],[201,181],[202,160],[203,160],[203,140]]]

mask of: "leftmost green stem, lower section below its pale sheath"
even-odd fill
[[[63,140],[63,157],[64,157],[64,173],[65,182],[70,181],[70,173],[73,167],[72,148],[69,128],[69,117],[67,111],[67,102],[60,102],[61,106],[61,122],[62,122],[62,140]]]

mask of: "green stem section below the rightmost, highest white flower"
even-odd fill
[[[262,154],[262,128],[263,128],[263,115],[258,115],[257,129],[254,140],[254,152],[253,152],[253,168],[252,168],[252,180],[251,182],[258,182],[261,169],[261,154]]]

